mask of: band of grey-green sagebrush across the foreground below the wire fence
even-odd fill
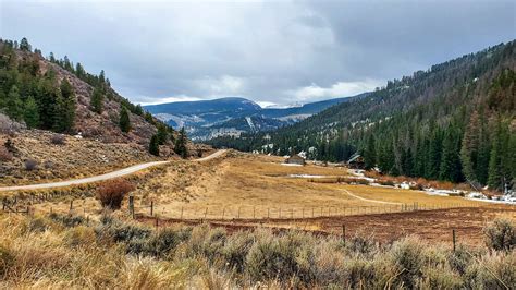
[[[75,225],[61,216],[52,220]],[[496,230],[487,234],[490,245],[492,237],[506,237],[506,229],[514,229],[514,223],[497,220],[486,232],[493,232],[492,228]],[[116,249],[138,259],[189,263],[198,270],[207,267],[210,277],[217,273],[244,288],[272,283],[280,288],[505,289],[516,285],[515,251],[497,245],[484,250],[459,245],[454,252],[416,237],[379,245],[372,237],[356,235],[344,243],[299,231],[257,229],[230,234],[207,225],[152,230],[105,216],[95,229],[84,225],[67,229],[64,243],[74,249],[118,243],[121,247]],[[9,257],[10,252],[3,250],[0,247],[0,262],[2,255]]]

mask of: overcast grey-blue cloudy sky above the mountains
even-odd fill
[[[0,37],[106,71],[136,104],[348,97],[516,38],[516,1],[0,0]]]

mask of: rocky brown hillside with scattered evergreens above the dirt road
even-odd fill
[[[120,96],[103,71],[90,74],[52,52],[46,59],[26,38],[0,41],[0,112],[28,129],[103,142],[174,142],[172,128]]]

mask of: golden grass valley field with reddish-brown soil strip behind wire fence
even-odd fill
[[[226,157],[192,162],[173,160],[138,182],[136,216],[144,222],[201,220],[228,228],[256,226],[296,228],[341,234],[373,233],[390,241],[416,233],[430,241],[450,241],[455,229],[460,241],[477,244],[488,220],[516,219],[508,205],[457,196],[340,183],[310,182],[299,177],[345,177],[345,168],[281,165],[282,158],[230,152]],[[150,205],[152,204],[152,219]],[[125,213],[127,204],[124,205]],[[70,212],[70,201],[34,205],[35,212]],[[417,210],[415,210],[417,209]],[[74,201],[72,213],[98,216],[94,197]]]

